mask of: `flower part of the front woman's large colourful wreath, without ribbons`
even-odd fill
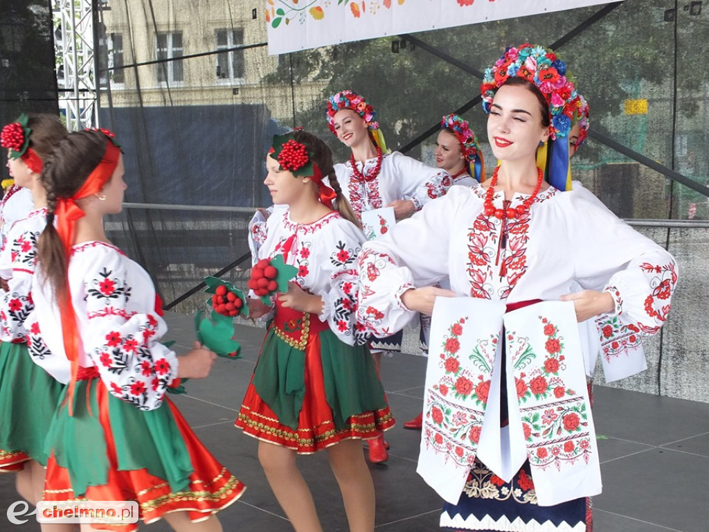
[[[485,70],[480,92],[486,113],[490,112],[497,89],[510,77],[521,77],[535,84],[545,97],[549,104],[549,135],[552,140],[569,134],[579,94],[566,76],[566,64],[557,54],[529,43],[508,48],[495,65]]]

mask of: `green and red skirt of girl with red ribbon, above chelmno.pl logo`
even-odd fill
[[[167,397],[160,408],[141,411],[94,376],[77,382],[73,401],[74,416],[64,401],[47,437],[46,501],[137,501],[145,523],[173,511],[197,522],[244,492]],[[138,530],[137,523],[93,526]]]

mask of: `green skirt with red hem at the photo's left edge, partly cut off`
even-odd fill
[[[36,365],[25,343],[0,343],[0,472],[47,463],[45,438],[64,385]]]

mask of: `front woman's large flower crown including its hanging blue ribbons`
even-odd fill
[[[546,171],[547,181],[552,186],[559,190],[571,189],[568,137],[571,120],[579,106],[579,94],[566,74],[566,63],[552,50],[530,43],[508,48],[485,70],[480,92],[486,113],[490,112],[497,90],[510,77],[521,77],[534,84],[547,101],[549,142],[540,148],[542,154],[537,156],[537,165]]]

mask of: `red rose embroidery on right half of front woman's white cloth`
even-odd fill
[[[564,461],[588,463],[592,450],[588,411],[583,393],[567,387],[559,375],[566,369],[563,336],[554,323],[539,318],[547,337],[545,353],[535,353],[528,338],[507,331],[508,355],[515,371],[530,464],[542,469],[554,465],[560,470]],[[531,406],[523,406],[527,401]]]

